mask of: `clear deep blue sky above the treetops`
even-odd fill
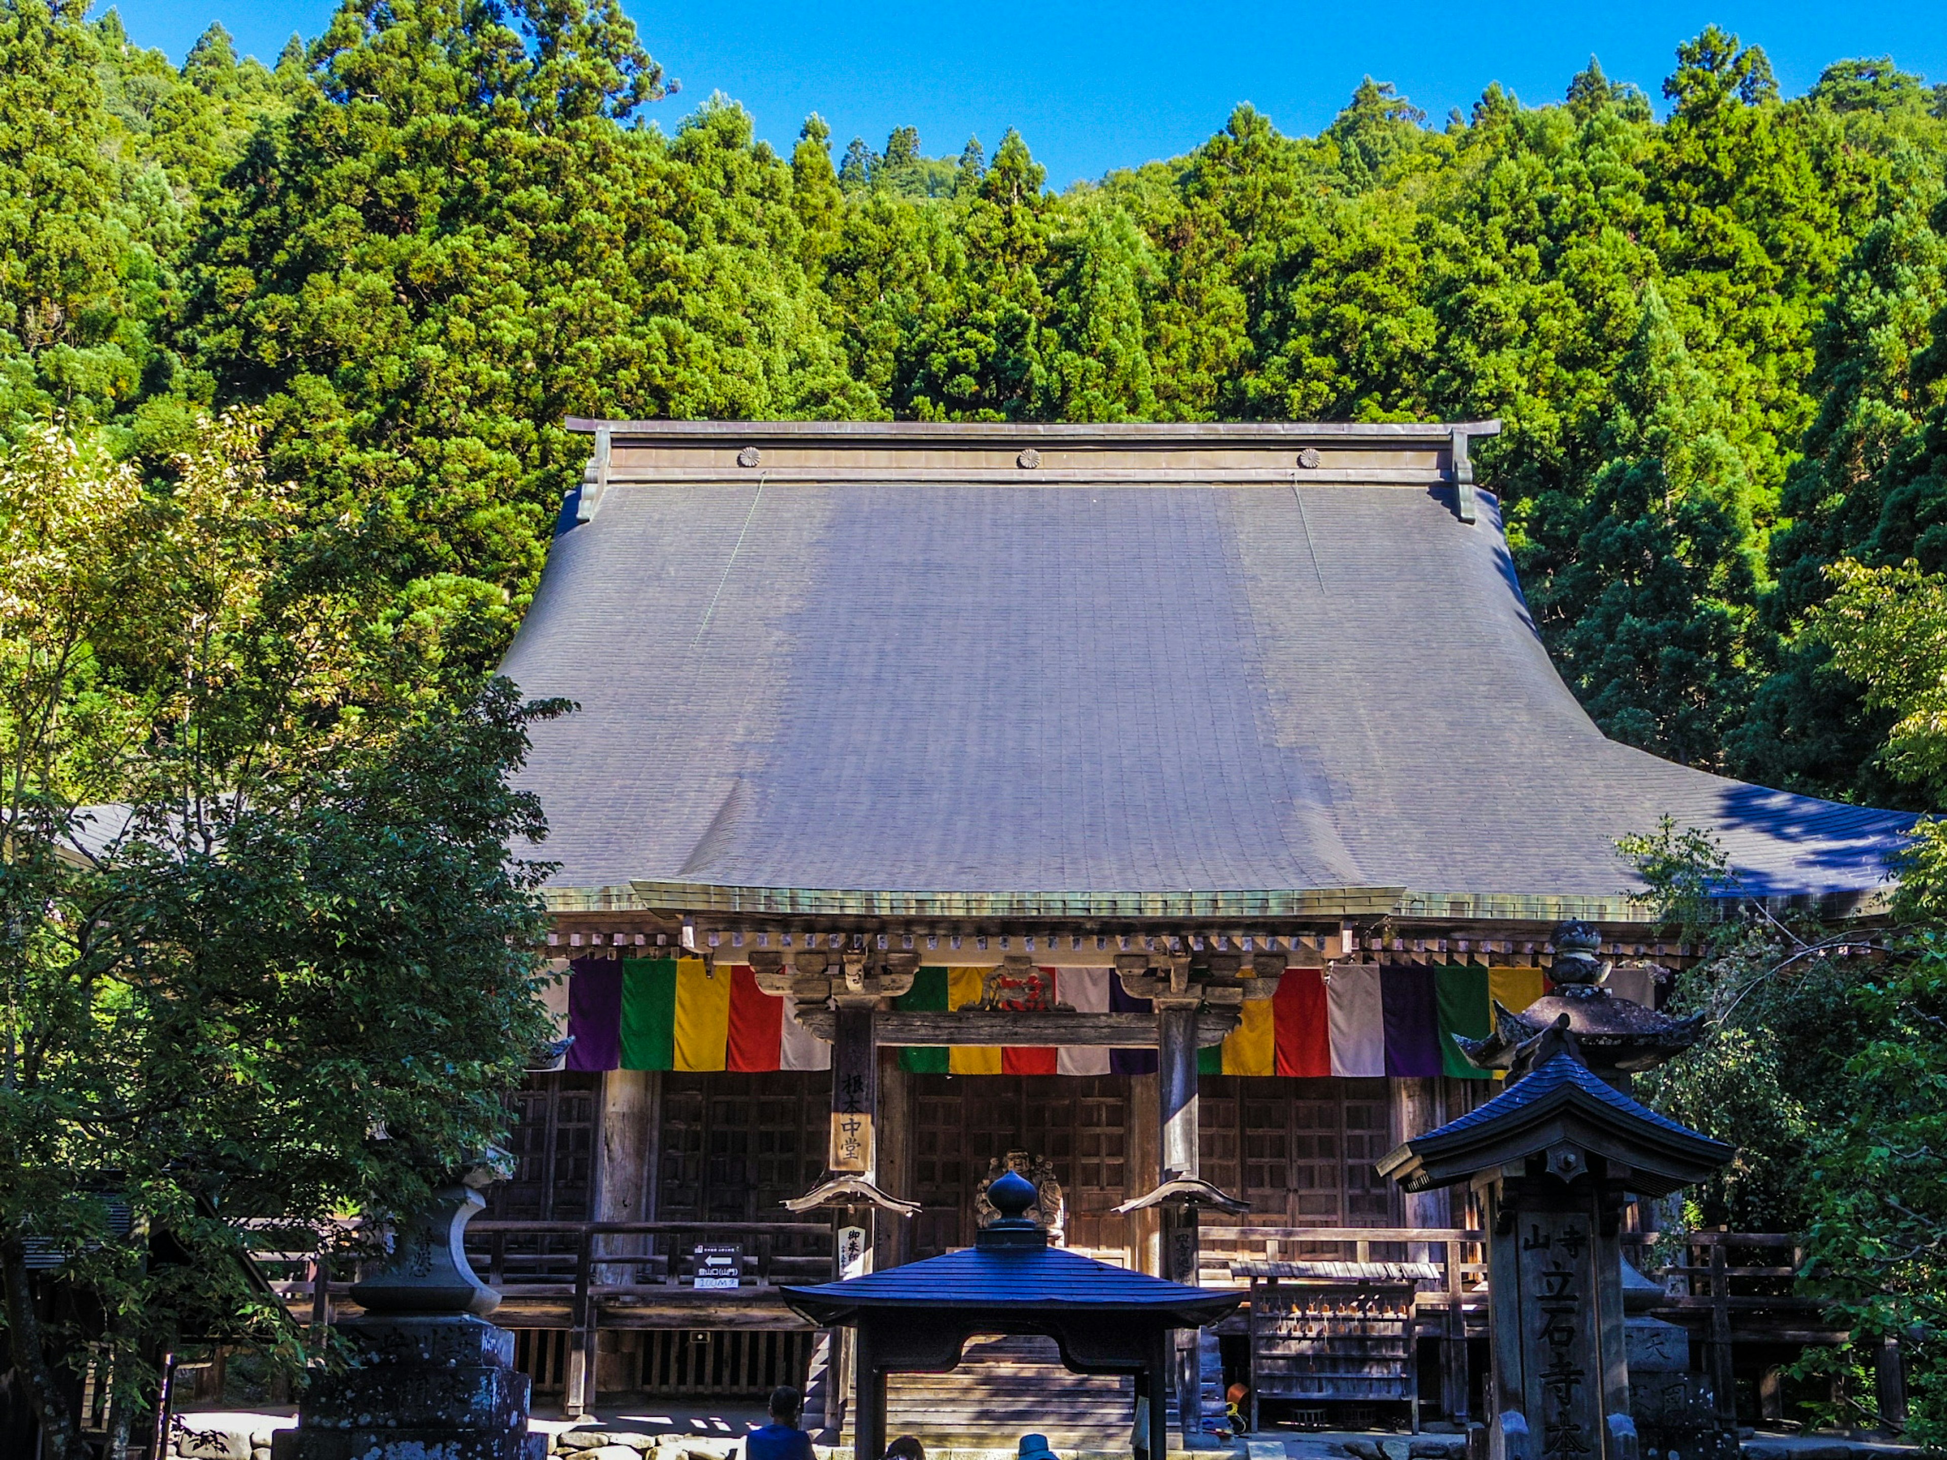
[[[1593,53],[1612,78],[1657,97],[1676,43],[1711,21],[1762,45],[1787,93],[1811,86],[1830,60],[1887,53],[1947,80],[1939,0],[623,2],[650,53],[683,84],[681,95],[650,109],[664,128],[711,91],[742,101],[757,134],[787,150],[810,111],[831,123],[839,148],[855,134],[884,146],[894,127],[913,125],[927,152],[958,152],[968,134],[993,152],[1018,127],[1057,187],[1184,152],[1238,101],[1285,130],[1314,132],[1367,74],[1443,119],[1489,82],[1530,103],[1556,99]],[[292,31],[315,35],[331,8],[125,0],[121,12],[134,41],[175,60],[212,19],[269,60]]]

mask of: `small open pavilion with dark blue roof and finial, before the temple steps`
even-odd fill
[[[1170,1333],[1217,1324],[1242,1295],[1131,1273],[1047,1244],[1026,1217],[1036,1187],[1003,1172],[985,1189],[995,1217],[974,1246],[882,1273],[787,1287],[818,1326],[851,1328],[855,1454],[886,1448],[886,1374],[950,1372],[975,1333],[1042,1333],[1079,1374],[1135,1374],[1149,1433],[1166,1435]]]

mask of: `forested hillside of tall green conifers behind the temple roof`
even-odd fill
[[[1240,105],[1051,193],[1012,132],[810,117],[787,156],[666,99],[652,41],[611,0],[352,0],[275,68],[216,27],[175,68],[0,0],[0,432],[165,477],[249,407],[401,633],[493,662],[569,413],[1501,417],[1482,477],[1610,734],[1939,800],[1941,650],[1889,625],[1947,568],[1947,88],[1838,60],[1787,99],[1711,29],[1659,97],[1591,60],[1429,121],[1367,82],[1318,136]],[[1840,619],[1885,652],[1834,662]]]

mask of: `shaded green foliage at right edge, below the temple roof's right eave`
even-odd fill
[[[1715,919],[1696,921],[1709,894],[1737,892],[1708,837],[1665,820],[1622,851],[1672,929],[1708,948],[1671,1001],[1676,1012],[1706,1016],[1706,1038],[1637,1082],[1657,1110],[1737,1147],[1731,1166],[1690,1193],[1682,1223],[1805,1232],[1799,1293],[1824,1304],[1854,1347],[1807,1351],[1797,1372],[1854,1376],[1861,1355],[1898,1339],[1910,1384],[1906,1439],[1939,1446],[1947,825],[1920,823],[1898,868],[1894,921],[1871,931],[1787,921],[1756,903],[1719,903]],[[1824,1417],[1871,1423],[1867,1405],[1848,1405]]]

